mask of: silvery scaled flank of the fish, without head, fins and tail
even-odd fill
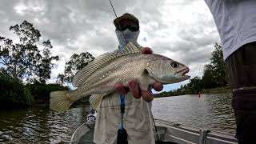
[[[111,93],[114,91],[116,83],[127,85],[130,79],[140,78],[143,71],[146,69],[147,63],[154,62],[155,56],[158,55],[130,54],[117,58],[115,61],[107,63],[106,66],[102,66],[101,69],[98,69],[94,74],[91,74],[88,80],[82,82],[82,86],[77,91],[76,95],[90,95],[91,93],[94,94],[98,91],[104,91],[104,94]],[[102,77],[102,75],[105,75],[108,71],[111,71],[110,74],[107,77]],[[103,84],[105,84],[105,86]]]

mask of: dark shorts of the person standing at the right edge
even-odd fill
[[[256,42],[242,46],[226,58],[226,67],[233,90],[235,137],[240,144],[256,143]]]

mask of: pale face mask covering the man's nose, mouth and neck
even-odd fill
[[[118,37],[119,50],[122,50],[122,48],[126,46],[126,41],[133,42],[134,45],[138,45],[137,39],[138,39],[139,30],[134,32],[130,31],[129,29],[124,30],[123,34],[125,35],[126,39],[123,37],[122,31],[115,30],[115,34],[117,34],[117,37]]]

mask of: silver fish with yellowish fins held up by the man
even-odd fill
[[[190,76],[185,75],[189,68],[180,62],[159,54],[142,54],[131,42],[119,54],[106,53],[90,62],[74,76],[76,90],[54,91],[50,93],[50,109],[59,112],[69,107],[82,97],[96,94],[96,104],[102,94],[115,91],[115,85],[128,85],[136,79],[142,90],[147,90],[154,82],[170,84],[182,82]],[[95,98],[95,97],[94,97]]]

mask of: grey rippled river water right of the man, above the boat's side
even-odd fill
[[[169,98],[155,98],[154,118],[178,122],[187,126],[210,130],[235,132],[234,111],[231,94],[183,95]]]

